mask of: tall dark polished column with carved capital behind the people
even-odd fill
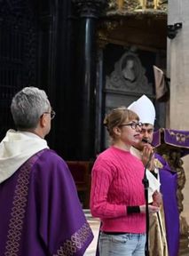
[[[73,0],[79,19],[76,74],[77,158],[89,160],[95,151],[96,25],[105,0]],[[98,114],[98,113],[97,113]]]

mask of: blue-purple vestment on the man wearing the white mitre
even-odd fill
[[[169,164],[160,155],[155,154],[155,158],[163,165],[159,171],[169,256],[177,256],[179,248],[177,172],[171,172]]]

